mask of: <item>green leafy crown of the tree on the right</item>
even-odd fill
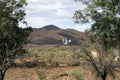
[[[98,37],[104,48],[120,49],[120,0],[75,0],[86,7],[77,10],[77,22],[92,22],[89,34]]]

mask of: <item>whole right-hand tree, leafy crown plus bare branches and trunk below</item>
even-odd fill
[[[118,53],[120,55],[120,0],[75,1],[80,1],[85,5],[85,8],[83,10],[77,10],[75,12],[73,16],[75,22],[92,22],[93,24],[91,28],[87,30],[87,33],[90,35],[91,39],[93,37],[97,38],[97,41],[102,46],[102,48],[99,47],[101,48],[101,53],[99,49],[97,49],[99,52],[98,62],[95,62],[96,60],[92,58],[90,56],[90,52],[86,50],[83,50],[83,52],[89,59],[84,58],[83,56],[82,57],[92,65],[92,68],[96,71],[96,73],[100,73],[102,80],[106,80],[109,72],[112,73],[116,71],[116,68],[120,67],[119,60],[114,62],[114,49],[118,50]],[[93,39],[92,41],[94,42]],[[110,50],[113,51],[109,52]],[[101,58],[101,61],[99,58]]]

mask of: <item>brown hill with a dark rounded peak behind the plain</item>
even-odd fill
[[[31,34],[31,44],[34,45],[62,45],[62,40],[71,40],[70,45],[89,46],[89,38],[74,29],[61,29],[55,25],[46,25],[42,28],[34,28]]]

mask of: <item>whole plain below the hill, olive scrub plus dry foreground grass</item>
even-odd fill
[[[80,46],[39,46],[26,50],[28,53],[16,60],[21,66],[9,69],[5,80],[98,80],[80,58]],[[115,80],[120,80],[119,74]]]

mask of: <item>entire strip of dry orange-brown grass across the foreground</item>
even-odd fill
[[[94,77],[94,74],[91,73],[89,68],[74,66],[74,67],[56,67],[56,68],[38,68],[45,70],[45,80],[77,80],[75,76],[71,75],[71,71],[83,72],[83,80],[98,80]],[[120,73],[117,74],[116,79],[120,80]],[[9,69],[6,73],[5,80],[40,80],[34,68],[14,68]],[[44,79],[43,79],[44,80]],[[113,80],[108,77],[107,80]]]

